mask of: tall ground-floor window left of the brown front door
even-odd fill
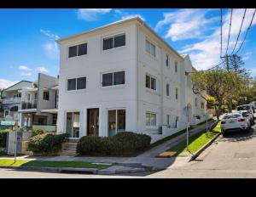
[[[70,138],[79,138],[79,112],[67,112],[66,132]]]

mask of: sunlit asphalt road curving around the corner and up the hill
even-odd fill
[[[163,159],[164,160],[164,159]],[[178,163],[178,165],[177,165]],[[179,177],[256,177],[256,125],[250,132],[234,132],[220,136],[195,161],[174,162],[166,170],[154,173],[126,174],[118,176],[64,174],[49,172],[22,172],[0,169],[0,177],[78,177],[78,178],[179,178]]]

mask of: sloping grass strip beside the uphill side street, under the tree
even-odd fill
[[[195,153],[197,150],[201,149],[201,147],[207,142],[209,142],[212,138],[214,138],[217,134],[216,132],[220,131],[220,122],[218,125],[213,128],[214,132],[200,132],[196,133],[194,136],[189,137],[189,151],[191,153]],[[183,140],[179,144],[173,146],[171,149],[167,149],[166,151],[176,152],[173,156],[187,156],[189,152],[187,151],[187,141]]]

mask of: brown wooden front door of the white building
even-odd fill
[[[99,109],[87,109],[87,135],[99,135]]]

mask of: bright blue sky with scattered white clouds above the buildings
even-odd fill
[[[254,9],[247,9],[237,44],[241,44]],[[233,9],[229,52],[234,48],[244,9]],[[57,76],[59,48],[55,39],[72,36],[117,20],[140,16],[179,53],[189,53],[202,70],[220,61],[219,9],[0,9],[0,88],[20,80],[35,81],[38,72]],[[230,9],[223,15],[223,53],[230,24]],[[256,76],[256,16],[240,52]]]

